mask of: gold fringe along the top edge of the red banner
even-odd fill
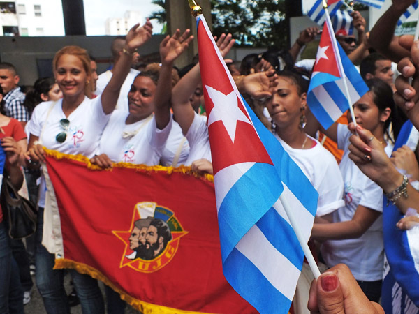
[[[69,155],[61,153],[60,151],[53,151],[51,149],[47,149],[46,147],[43,147],[45,153],[47,156],[51,156],[57,160],[61,159],[67,159],[67,160],[75,160],[80,163],[84,163],[88,169],[90,170],[103,170],[103,168],[99,167],[98,165],[94,165],[90,162],[90,159],[83,155]],[[166,172],[167,174],[172,174],[172,172],[182,172],[183,174],[190,174],[193,175],[193,177],[197,178],[203,178],[207,181],[214,182],[214,176],[212,174],[199,174],[196,171],[192,171],[191,167],[181,165],[179,167],[164,167],[161,165],[135,165],[133,163],[113,163],[112,167],[119,167],[119,168],[129,168],[129,169],[135,169],[138,171],[144,171],[144,172]],[[112,167],[105,169],[107,171],[112,171]]]

